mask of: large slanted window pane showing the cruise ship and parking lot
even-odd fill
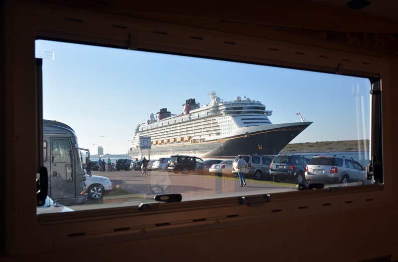
[[[53,123],[43,159],[57,182],[49,197],[73,210],[160,193],[296,192],[294,174],[338,185],[344,160],[369,163],[368,79],[47,40],[35,48],[54,54],[42,66],[45,127]],[[248,186],[239,185],[239,155]],[[347,185],[370,183],[357,173]]]

